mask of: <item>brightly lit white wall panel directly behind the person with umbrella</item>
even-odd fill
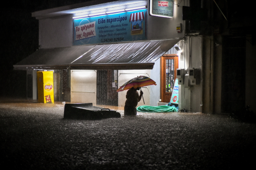
[[[118,71],[118,88],[121,87],[125,82],[128,82],[130,79],[137,76],[146,76],[150,77],[150,70],[119,70]],[[150,86],[141,88],[143,91],[143,98],[140,100],[137,106],[141,105],[150,105]],[[138,91],[139,92],[139,91]],[[118,106],[125,106],[127,91],[118,92]],[[140,94],[140,93],[139,93]]]

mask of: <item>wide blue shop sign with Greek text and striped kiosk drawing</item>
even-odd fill
[[[147,10],[73,20],[73,45],[146,40]]]

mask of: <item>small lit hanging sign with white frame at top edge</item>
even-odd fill
[[[173,0],[148,0],[148,14],[157,17],[173,17]]]

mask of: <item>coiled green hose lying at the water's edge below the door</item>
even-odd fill
[[[139,112],[148,112],[148,113],[161,113],[161,112],[177,112],[177,108],[172,106],[139,106],[137,107]]]

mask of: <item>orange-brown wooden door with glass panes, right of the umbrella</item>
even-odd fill
[[[179,66],[177,54],[165,54],[161,57],[160,98],[162,102],[169,103]]]

